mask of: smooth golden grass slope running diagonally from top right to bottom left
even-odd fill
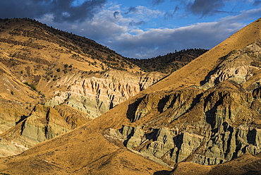
[[[126,117],[128,105],[146,93],[200,85],[200,81],[205,79],[207,73],[219,64],[220,57],[260,39],[260,28],[261,20],[256,20],[187,66],[172,73],[171,76],[152,85],[135,97],[131,97],[97,119],[69,133],[40,143],[21,155],[1,158],[1,172],[8,174],[166,173],[170,170],[169,167],[140,157],[126,150],[121,143],[107,140],[104,138],[104,132],[109,128],[119,129],[123,125],[134,126],[135,123],[130,123]],[[250,159],[252,158],[250,157]],[[181,166],[183,165],[181,164]],[[195,167],[200,168],[199,171],[205,169],[202,174],[210,172],[209,167]],[[197,169],[193,171],[193,174],[197,174]],[[214,169],[211,171],[213,174],[219,174],[219,172],[215,173]]]

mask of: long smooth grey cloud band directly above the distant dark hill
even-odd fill
[[[259,16],[260,13],[261,8],[258,8],[212,23],[196,23],[181,28],[132,30],[133,35],[123,33],[109,45],[124,56],[137,58],[151,58],[174,52],[175,49],[211,49],[247,25],[246,20],[253,20],[253,16]]]

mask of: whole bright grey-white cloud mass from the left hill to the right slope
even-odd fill
[[[123,56],[151,58],[174,52],[175,49],[211,49],[234,32],[247,25],[249,20],[260,17],[261,8],[241,11],[238,16],[227,16],[211,23],[195,23],[181,28],[150,28],[142,30],[129,25],[132,21],[149,21],[164,16],[160,11],[152,11],[138,6],[133,14],[124,14],[119,5],[104,8],[92,20],[78,23],[54,23],[52,16],[44,16],[40,21],[55,28],[73,32],[104,44]],[[117,18],[114,17],[114,12]]]

